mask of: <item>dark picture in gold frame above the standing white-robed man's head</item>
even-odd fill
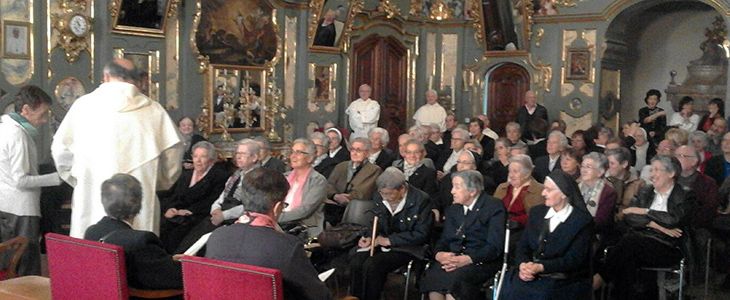
[[[111,2],[112,32],[165,37],[167,17],[174,15],[180,0],[114,0]]]

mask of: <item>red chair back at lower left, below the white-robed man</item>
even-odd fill
[[[46,235],[53,299],[127,299],[124,250],[112,244]]]

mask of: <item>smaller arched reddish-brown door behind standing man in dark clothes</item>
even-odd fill
[[[492,130],[503,136],[504,126],[517,120],[517,110],[530,89],[530,74],[513,63],[500,65],[488,74],[487,115]]]

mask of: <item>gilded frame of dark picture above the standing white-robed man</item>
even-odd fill
[[[180,3],[180,0],[167,0],[164,4],[165,7],[163,10],[160,10],[158,8],[158,12],[161,12],[161,14],[157,14],[157,17],[160,18],[159,22],[157,22],[157,25],[128,23],[128,21],[126,20],[127,14],[125,13],[125,9],[129,8],[127,4],[133,5],[134,1],[135,0],[111,0],[111,2],[109,2],[109,13],[112,17],[112,32],[119,34],[164,38],[165,28],[168,23],[167,20],[169,18],[175,17],[175,15],[177,14],[177,7]],[[155,3],[157,2],[156,0],[146,1],[154,1]],[[145,12],[150,11],[146,8],[142,10]],[[129,22],[131,22],[131,20]]]

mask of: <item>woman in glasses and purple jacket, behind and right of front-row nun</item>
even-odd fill
[[[588,212],[596,223],[596,233],[609,233],[613,227],[613,210],[616,205],[616,190],[603,178],[608,168],[608,159],[602,153],[591,152],[583,156],[580,165],[580,193],[586,202]]]

